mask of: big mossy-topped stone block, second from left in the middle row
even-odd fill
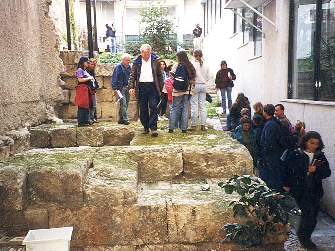
[[[28,171],[30,202],[67,207],[82,205],[83,184],[95,149],[39,150],[48,153],[48,156]]]

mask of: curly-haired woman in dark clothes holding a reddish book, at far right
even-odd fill
[[[304,247],[312,250],[317,249],[311,235],[324,194],[322,179],[331,174],[326,156],[321,152],[324,147],[320,134],[310,131],[302,138],[299,149],[289,153],[283,165],[283,188],[295,198],[302,211],[296,235]]]

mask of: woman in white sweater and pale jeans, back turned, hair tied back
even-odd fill
[[[188,131],[195,131],[198,119],[198,104],[200,109],[200,130],[206,130],[206,82],[209,80],[209,68],[202,61],[202,51],[196,49],[193,52],[194,61],[191,63],[195,68],[197,76],[195,77],[194,95],[191,97],[191,126]]]

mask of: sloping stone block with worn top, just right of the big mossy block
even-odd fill
[[[137,200],[137,163],[114,152],[93,158],[84,185],[86,205],[127,205]]]

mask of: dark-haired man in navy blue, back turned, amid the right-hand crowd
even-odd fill
[[[261,136],[262,160],[258,166],[259,177],[269,188],[282,191],[282,168],[280,161],[280,122],[274,117],[275,107],[267,104],[263,107],[263,116],[266,123]]]

